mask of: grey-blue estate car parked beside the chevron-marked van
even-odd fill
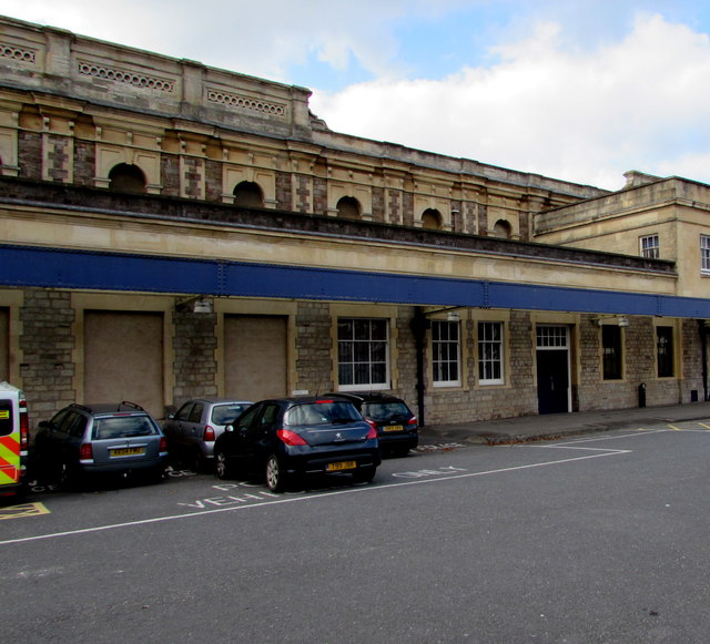
[[[168,441],[153,417],[132,402],[70,405],[39,423],[39,470],[78,485],[88,474],[142,473],[162,480]]]

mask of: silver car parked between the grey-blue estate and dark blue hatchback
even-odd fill
[[[247,400],[195,398],[163,423],[171,456],[199,472],[214,464],[214,441],[247,407]]]

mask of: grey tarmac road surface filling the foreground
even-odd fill
[[[710,421],[645,425],[282,495],[187,471],[40,491],[0,521],[3,637],[704,642]]]

